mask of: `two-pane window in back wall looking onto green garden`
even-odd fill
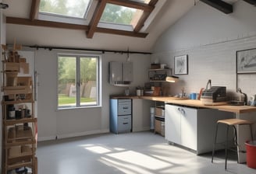
[[[58,108],[100,106],[100,57],[58,55]]]

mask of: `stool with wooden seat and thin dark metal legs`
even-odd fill
[[[251,140],[253,140],[253,134],[252,134],[252,127],[251,125],[254,124],[253,122],[251,122],[250,120],[241,120],[241,119],[226,119],[226,120],[218,120],[217,124],[216,124],[216,130],[215,130],[215,139],[214,139],[214,144],[213,144],[213,150],[212,150],[212,162],[213,162],[213,156],[215,154],[215,144],[216,140],[217,140],[217,134],[218,134],[218,126],[219,124],[226,124],[226,148],[225,148],[225,169],[226,169],[226,161],[227,161],[227,157],[228,157],[228,148],[229,148],[229,126],[233,127],[233,131],[234,131],[234,143],[236,145],[236,148],[238,147],[237,144],[237,131],[236,131],[236,126],[237,125],[249,125],[250,126],[250,130],[251,130]]]

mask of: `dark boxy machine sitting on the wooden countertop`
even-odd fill
[[[218,103],[226,101],[226,87],[212,86],[210,89],[204,89],[201,93],[201,101],[208,103]]]

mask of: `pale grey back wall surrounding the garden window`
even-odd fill
[[[108,132],[109,95],[123,94],[124,89],[126,89],[108,84],[108,62],[126,61],[127,55],[114,53],[101,54],[102,106],[57,111],[57,54],[64,52],[62,50],[35,50],[35,62],[39,83],[37,86],[39,141],[54,139],[56,136],[62,138]],[[135,92],[137,85],[142,86],[144,82],[148,82],[150,55],[130,54],[130,61],[133,62],[134,77],[130,90],[131,92]]]

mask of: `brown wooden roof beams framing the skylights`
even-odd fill
[[[77,24],[77,23],[65,23],[59,21],[50,21],[38,19],[40,0],[32,0],[30,8],[30,18],[16,18],[16,17],[7,17],[6,23],[14,23],[20,25],[30,25],[30,26],[47,26],[47,27],[56,27],[72,30],[84,30],[87,38],[92,38],[94,33],[110,33],[117,35],[124,35],[129,37],[147,37],[148,33],[141,32],[141,29],[144,27],[144,23],[147,21],[148,17],[151,15],[151,12],[155,9],[155,5],[158,0],[148,0],[148,3],[134,1],[134,0],[93,0],[97,3],[93,15],[90,19],[89,24]],[[119,28],[105,28],[99,26],[101,15],[105,10],[107,4],[120,5],[128,8],[139,9],[142,11],[142,14],[137,23],[133,25],[133,30],[120,30]]]

